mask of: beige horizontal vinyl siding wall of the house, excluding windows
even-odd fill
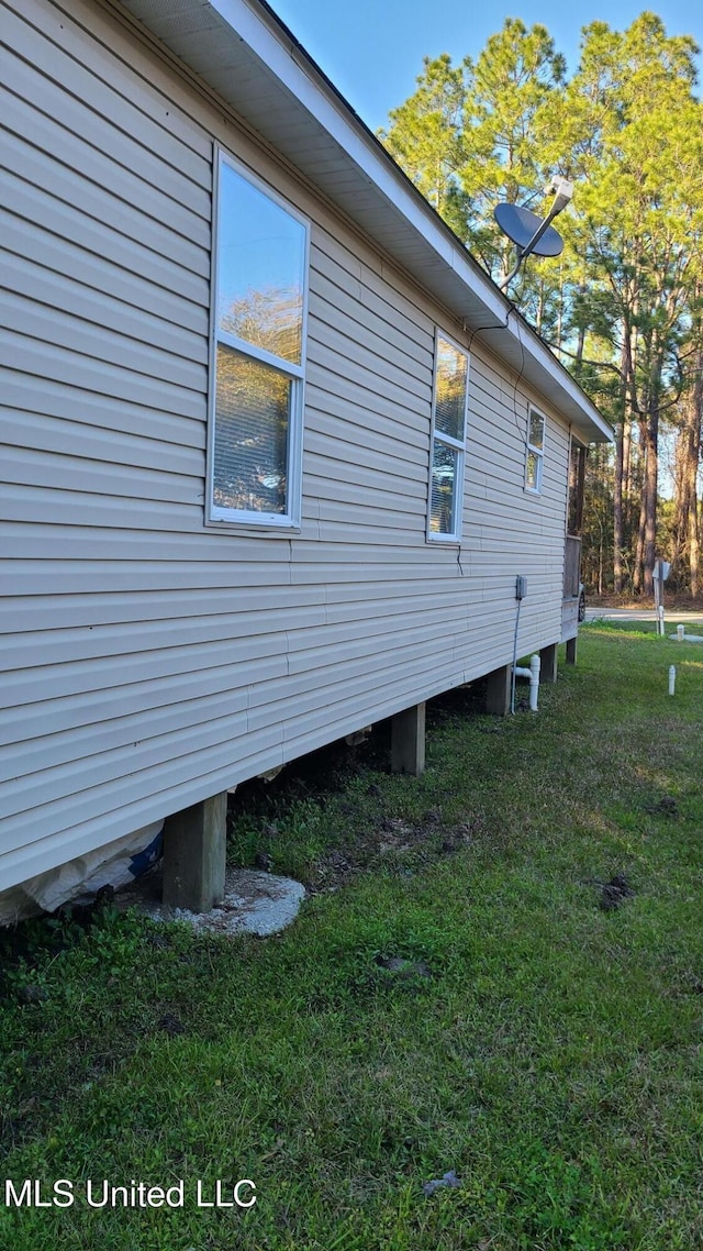
[[[4,9],[0,889],[560,638],[569,432],[108,6]],[[215,144],[311,224],[298,530],[204,519]],[[427,542],[435,329],[470,350]],[[524,489],[528,404],[547,419]]]

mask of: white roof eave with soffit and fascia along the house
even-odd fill
[[[612,430],[539,335],[260,0],[121,0],[193,73],[585,442]]]

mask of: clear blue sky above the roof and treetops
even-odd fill
[[[414,90],[423,56],[449,53],[454,61],[477,56],[505,18],[527,26],[542,23],[567,58],[578,64],[580,30],[607,21],[622,30],[643,9],[657,13],[669,35],[693,35],[703,46],[700,0],[637,4],[630,0],[518,0],[507,6],[468,0],[270,0],[274,10],[331,79],[372,130],[383,126],[389,109]],[[699,76],[703,63],[698,59]]]

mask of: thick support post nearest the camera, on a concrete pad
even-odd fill
[[[209,912],[225,893],[226,791],[164,824],[164,904]]]

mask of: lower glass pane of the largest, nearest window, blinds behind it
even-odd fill
[[[214,503],[254,513],[288,512],[288,428],[293,382],[218,345]]]

